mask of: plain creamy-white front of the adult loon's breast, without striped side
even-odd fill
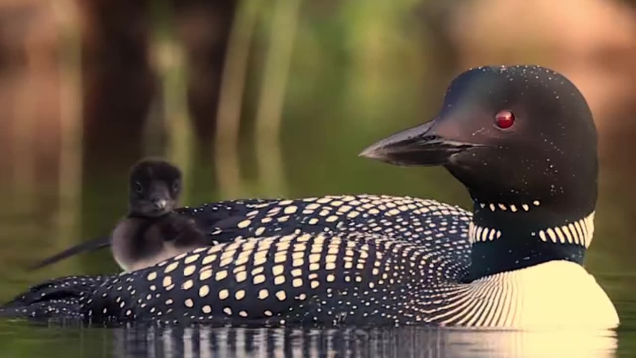
[[[476,296],[481,296],[475,298],[499,302],[490,312],[500,317],[492,320],[495,327],[611,329],[619,324],[616,308],[607,294],[593,276],[574,262],[545,262],[487,276],[469,285]]]

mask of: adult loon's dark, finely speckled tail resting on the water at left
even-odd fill
[[[66,276],[29,288],[0,306],[0,317],[34,320],[85,319],[86,297],[110,276]]]

